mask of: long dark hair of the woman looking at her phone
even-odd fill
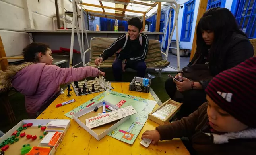
[[[236,19],[229,9],[219,7],[211,8],[204,13],[196,28],[197,47],[195,58],[200,57],[200,55],[204,52],[208,52],[209,49],[209,46],[206,45],[204,39],[202,38],[203,30],[210,30],[214,32],[214,40],[209,51],[209,67],[210,70],[213,70],[212,74],[219,74],[219,72],[217,72],[217,68],[222,68],[224,64],[223,58],[226,54],[225,50],[223,50],[223,47],[225,47],[226,44],[225,41],[229,40],[233,32],[243,36],[246,36],[246,34],[244,34],[242,30],[239,30]],[[216,72],[214,72],[214,70]]]

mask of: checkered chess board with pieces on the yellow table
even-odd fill
[[[94,83],[94,89],[95,91],[92,92],[91,89],[93,88],[92,84]],[[78,86],[81,88],[81,91],[83,92],[83,84],[84,84],[84,81],[78,81]],[[82,94],[78,94],[78,88],[76,88],[76,86],[74,85],[74,82],[71,83],[73,89],[74,89],[74,92],[76,93],[76,96],[81,96],[81,95],[87,95],[87,94],[92,94],[92,93],[98,93],[98,92],[101,92],[101,91],[106,91],[107,89],[109,88],[106,88],[106,89],[103,89],[97,82],[96,80],[89,80],[87,81],[87,93],[82,93]],[[90,89],[90,93],[88,93],[88,89]],[[114,89],[113,87],[111,87],[111,89]]]

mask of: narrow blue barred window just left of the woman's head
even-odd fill
[[[192,23],[194,18],[195,1],[190,0],[184,4],[184,14],[181,28],[180,41],[190,42]]]

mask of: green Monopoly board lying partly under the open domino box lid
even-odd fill
[[[152,112],[153,108],[157,103],[153,100],[107,90],[100,95],[95,96],[91,100],[81,104],[70,112],[66,113],[65,116],[72,118],[72,115],[74,113],[77,113],[80,110],[83,110],[91,106],[92,104],[101,102],[103,100],[106,100],[120,108],[124,108],[126,106],[133,106],[138,112],[134,115],[131,115],[130,119],[125,121],[122,125],[120,125],[108,134],[109,136],[126,142],[128,144],[133,144],[133,142],[136,140],[138,134],[140,133],[140,130],[147,121],[148,114]]]

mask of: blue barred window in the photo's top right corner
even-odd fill
[[[246,33],[248,38],[256,38],[256,1],[238,0],[235,17],[239,29]]]

